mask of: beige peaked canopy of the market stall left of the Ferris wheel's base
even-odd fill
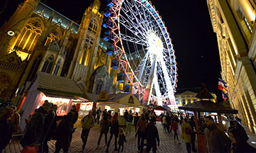
[[[139,99],[137,99],[132,93],[129,94],[110,94],[106,101],[97,101],[97,104],[105,104],[105,105],[112,105],[115,107],[140,107],[144,108]]]

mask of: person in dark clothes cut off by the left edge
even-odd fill
[[[14,115],[14,109],[7,106],[1,108],[0,114],[0,152],[8,145],[11,140],[12,125],[9,118]]]

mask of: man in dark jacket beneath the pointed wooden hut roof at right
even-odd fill
[[[225,152],[225,143],[228,141],[228,137],[225,135],[223,130],[218,128],[212,117],[205,117],[205,125],[210,130],[209,133],[205,133],[206,142],[208,144],[208,152]],[[205,130],[206,132],[206,130]]]

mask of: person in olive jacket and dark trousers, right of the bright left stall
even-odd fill
[[[87,138],[90,132],[90,129],[94,126],[94,118],[92,117],[92,111],[89,111],[88,115],[85,115],[81,120],[82,123],[82,150],[85,149]]]

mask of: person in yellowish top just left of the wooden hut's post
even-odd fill
[[[182,135],[181,138],[186,142],[186,149],[188,153],[191,153],[191,125],[188,123],[186,118],[183,119],[183,123],[181,125]]]

